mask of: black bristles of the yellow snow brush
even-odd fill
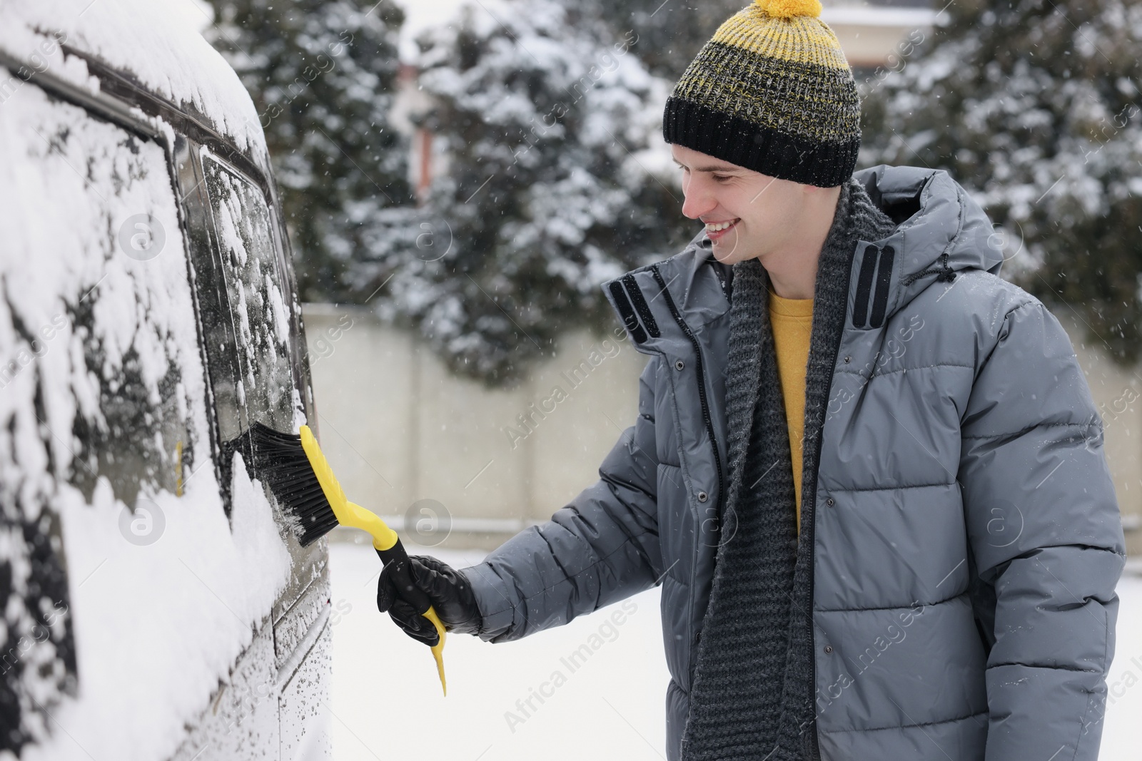
[[[254,423],[248,438],[255,475],[270,486],[278,503],[292,518],[290,527],[301,547],[308,547],[337,526],[337,516],[321,489],[301,437]]]

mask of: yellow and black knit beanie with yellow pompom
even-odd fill
[[[820,0],[755,0],[718,27],[666,102],[662,136],[770,177],[836,187],[860,99]]]

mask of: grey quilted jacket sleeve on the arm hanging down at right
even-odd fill
[[[1125,543],[1102,420],[1037,300],[1006,314],[962,437],[972,552],[995,594],[986,758],[1095,761]]]

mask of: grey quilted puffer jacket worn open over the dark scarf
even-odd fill
[[[1071,343],[946,172],[855,177],[899,226],[854,252],[821,436],[820,754],[1093,760],[1125,548]],[[497,642],[661,584],[671,761],[729,477],[730,276],[703,234],[604,284],[651,357],[638,419],[596,484],[465,572]]]

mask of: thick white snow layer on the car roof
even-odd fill
[[[98,97],[116,83],[145,90],[233,144],[262,173],[268,154],[257,110],[225,59],[194,25],[155,0],[0,0],[0,103],[19,80],[51,80]],[[134,87],[131,87],[134,86]],[[170,110],[131,107],[164,131]]]

